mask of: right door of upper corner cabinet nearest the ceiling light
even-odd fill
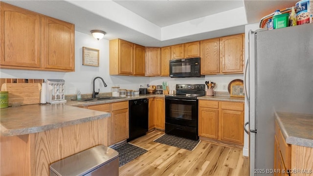
[[[134,75],[145,75],[145,47],[134,44]]]

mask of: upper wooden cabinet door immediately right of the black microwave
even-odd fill
[[[220,39],[209,39],[201,44],[201,74],[220,72]]]

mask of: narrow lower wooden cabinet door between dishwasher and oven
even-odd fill
[[[164,99],[155,99],[155,126],[157,129],[165,129]]]

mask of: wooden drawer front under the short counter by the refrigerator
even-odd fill
[[[277,133],[276,133],[277,132]],[[275,133],[278,140],[279,150],[287,169],[291,168],[291,145],[287,144],[277,122],[275,121]]]

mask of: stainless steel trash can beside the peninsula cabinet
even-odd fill
[[[118,152],[95,146],[51,164],[50,176],[118,176]]]

